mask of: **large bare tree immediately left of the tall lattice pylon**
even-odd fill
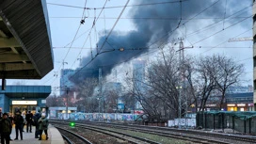
[[[130,75],[130,93],[150,120],[168,120],[178,116],[178,58],[174,50],[161,51],[146,74],[146,80]]]

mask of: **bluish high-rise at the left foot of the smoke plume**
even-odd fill
[[[62,69],[60,73],[60,95],[63,95],[65,93],[65,90],[63,90],[65,87],[72,88],[74,84],[69,79],[73,74],[75,73],[75,70],[72,69]]]

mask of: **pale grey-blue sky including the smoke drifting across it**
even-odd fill
[[[119,6],[124,6],[126,2],[87,0],[88,9],[84,10],[86,0],[47,0],[55,69],[41,80],[25,80],[24,84],[58,87],[60,69],[77,69],[80,62],[80,66],[84,67],[91,59],[90,48],[92,56],[96,55],[96,45],[99,50],[102,47],[100,53],[120,47],[150,48],[141,51],[141,54],[147,54],[157,49],[159,44],[171,45],[172,40],[184,38],[185,46],[194,46],[193,49],[186,49],[185,54],[209,56],[218,53],[244,63],[244,78],[248,80],[245,85],[252,85],[252,41],[228,42],[236,36],[252,36],[251,0],[184,0],[182,6],[177,0],[130,0],[129,7],[124,9],[114,26],[123,9]],[[144,5],[152,3],[154,5]],[[144,6],[136,6],[141,4]],[[99,19],[91,28],[94,17]],[[85,20],[84,24],[80,24],[82,19]],[[162,37],[164,39],[159,40]],[[87,67],[113,65],[130,57],[139,57],[136,53],[138,50],[107,52],[97,56]],[[62,65],[63,60],[68,64]],[[58,77],[54,76],[56,73]],[[8,80],[8,84],[13,82]]]

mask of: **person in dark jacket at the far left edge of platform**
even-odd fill
[[[11,123],[8,120],[8,113],[3,114],[3,118],[0,122],[0,130],[1,130],[1,144],[9,144],[9,136],[11,133]]]

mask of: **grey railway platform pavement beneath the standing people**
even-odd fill
[[[20,134],[18,140],[14,140],[15,136],[15,127],[12,127],[10,135],[12,141],[10,141],[10,144],[64,144],[62,136],[51,124],[48,127],[48,140],[39,140],[39,138],[35,138],[35,126],[32,127],[32,133],[26,133],[26,127],[24,126],[23,140],[21,140]]]

